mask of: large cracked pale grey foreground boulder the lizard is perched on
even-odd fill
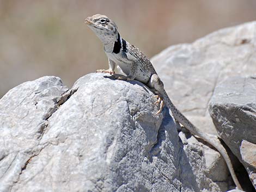
[[[183,145],[168,111],[155,115],[147,87],[103,76],[84,76],[71,90],[43,77],[0,100],[0,191],[230,188],[220,155],[180,132]]]

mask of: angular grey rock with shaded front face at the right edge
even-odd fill
[[[234,77],[218,85],[209,112],[218,134],[256,188],[256,78]]]

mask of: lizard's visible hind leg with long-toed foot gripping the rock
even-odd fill
[[[163,98],[161,96],[161,92],[162,92],[161,90],[163,90],[163,82],[161,81],[159,76],[157,76],[156,74],[153,74],[150,77],[148,86],[149,88],[154,89],[155,94],[157,94],[154,96],[155,98],[157,98],[157,101],[154,104],[160,104],[160,109],[156,112],[156,115],[158,115],[162,112],[164,107]]]

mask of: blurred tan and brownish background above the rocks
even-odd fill
[[[108,61],[84,18],[105,14],[149,57],[217,29],[256,20],[255,0],[0,0],[0,98],[41,76],[79,77]]]

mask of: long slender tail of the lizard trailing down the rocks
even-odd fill
[[[163,98],[163,101],[165,102],[166,106],[171,110],[173,113],[174,118],[181,123],[188,131],[190,131],[193,135],[196,135],[199,138],[202,138],[207,143],[214,146],[222,155],[225,162],[227,163],[229,172],[231,174],[231,177],[233,178],[233,181],[237,187],[237,189],[242,190],[242,187],[236,177],[233,165],[231,163],[231,160],[228,156],[227,150],[225,150],[224,146],[220,143],[220,140],[217,136],[206,134],[202,131],[200,131],[196,126],[194,126],[182,113],[174,106],[172,101],[170,101],[170,98],[168,97],[166,91],[164,91],[163,96],[166,96]]]

